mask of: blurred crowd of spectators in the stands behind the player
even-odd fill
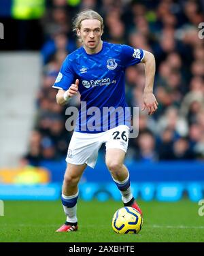
[[[56,103],[52,84],[67,54],[80,46],[71,20],[84,8],[103,16],[102,39],[152,52],[156,59],[154,94],[157,112],[139,112],[139,136],[129,140],[128,159],[138,161],[204,159],[203,1],[52,0],[41,18],[44,69],[37,95],[37,116],[24,160],[65,159],[71,132],[65,109]],[[144,65],[126,69],[126,101],[143,104]],[[68,106],[79,106],[73,97]],[[104,148],[101,149],[102,151]]]

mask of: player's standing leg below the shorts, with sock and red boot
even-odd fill
[[[62,203],[63,209],[67,216],[65,224],[56,231],[77,231],[78,218],[77,218],[77,201],[78,201],[78,182],[86,168],[86,164],[73,165],[67,164],[63,180]]]

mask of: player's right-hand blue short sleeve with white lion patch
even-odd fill
[[[124,67],[141,63],[144,55],[145,52],[142,49],[135,49],[125,44],[122,45],[122,64]]]

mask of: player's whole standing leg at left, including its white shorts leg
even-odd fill
[[[101,143],[98,134],[73,132],[66,158],[68,165],[62,193],[63,208],[67,215],[67,221],[57,231],[75,231],[78,228],[76,217],[78,182],[87,165],[92,168],[95,167]]]

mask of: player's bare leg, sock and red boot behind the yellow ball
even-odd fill
[[[131,206],[138,210],[141,214],[133,194],[131,193],[131,182],[129,170],[123,164],[125,152],[119,148],[109,148],[106,152],[105,163],[122,195],[124,206]]]

